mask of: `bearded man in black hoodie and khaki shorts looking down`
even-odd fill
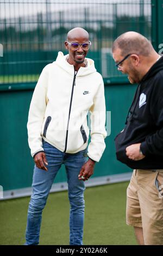
[[[136,32],[120,35],[112,55],[130,83],[138,83],[126,126],[115,138],[117,159],[134,168],[127,224],[140,245],[163,245],[163,57]]]

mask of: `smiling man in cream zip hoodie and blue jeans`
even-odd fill
[[[84,181],[101,159],[106,137],[104,85],[93,60],[85,58],[90,46],[83,28],[68,32],[68,54],[59,52],[56,61],[45,66],[34,90],[27,124],[35,167],[26,245],[39,244],[42,210],[61,164],[67,173],[70,245],[83,244]]]

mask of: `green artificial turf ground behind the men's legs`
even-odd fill
[[[84,245],[136,245],[126,225],[128,182],[86,188]],[[29,197],[0,202],[0,244],[23,245]],[[43,211],[40,245],[68,245],[67,191],[49,194]]]

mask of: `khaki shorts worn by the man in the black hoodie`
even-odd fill
[[[163,245],[163,169],[136,169],[127,188],[126,221],[143,228],[145,245]]]

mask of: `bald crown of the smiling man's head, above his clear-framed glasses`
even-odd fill
[[[67,33],[67,40],[75,40],[78,38],[85,38],[89,40],[89,33],[84,28],[73,28]]]

